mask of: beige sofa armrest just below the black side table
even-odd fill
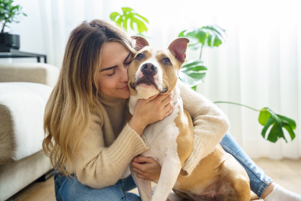
[[[35,82],[54,86],[59,69],[47,63],[0,63],[0,82]]]

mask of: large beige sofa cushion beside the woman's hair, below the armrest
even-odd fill
[[[42,150],[43,116],[51,91],[38,83],[0,83],[0,164]]]

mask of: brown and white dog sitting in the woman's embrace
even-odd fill
[[[157,187],[151,196],[151,181],[136,176],[130,168],[142,201],[166,200],[173,189],[188,200],[250,200],[250,181],[244,168],[218,145],[202,159],[190,176],[179,174],[193,148],[193,123],[183,109],[177,86],[178,72],[185,62],[189,43],[177,38],[168,49],[152,49],[143,37],[133,37],[138,52],[129,66],[129,110],[139,99],[174,91],[172,114],[148,125],[143,132],[149,149],[143,156],[154,158],[161,165]]]

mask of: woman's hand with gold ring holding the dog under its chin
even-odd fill
[[[173,111],[172,97],[170,94],[154,95],[148,99],[140,99],[135,108],[132,119],[129,123],[140,136],[144,128],[151,123],[163,120]]]

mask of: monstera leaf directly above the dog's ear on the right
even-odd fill
[[[202,46],[216,46],[225,42],[225,30],[216,25],[208,25],[201,28],[182,31],[178,37],[187,37],[190,40],[188,44],[192,49],[198,49]]]

